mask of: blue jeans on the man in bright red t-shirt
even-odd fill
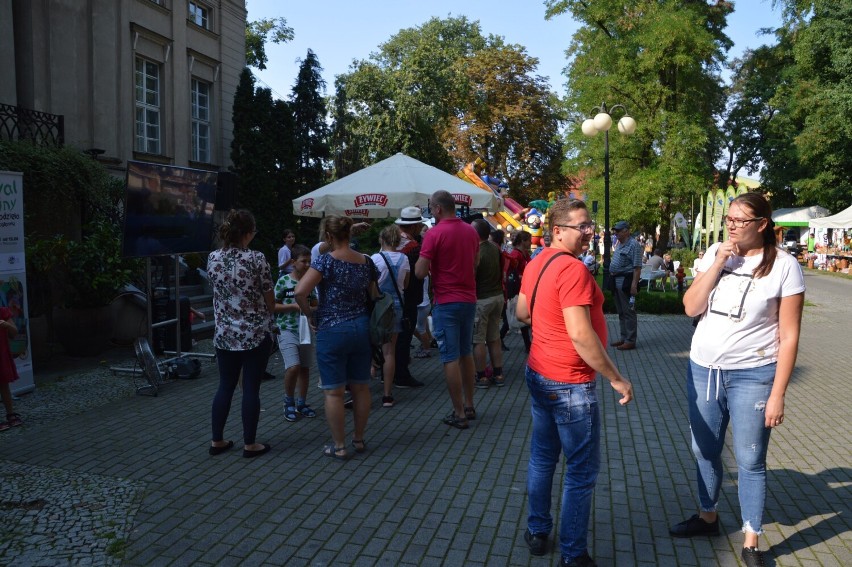
[[[566,384],[549,380],[527,367],[533,419],[527,471],[532,534],[553,529],[550,492],[560,451],[565,455],[559,547],[562,557],[586,553],[592,493],[600,470],[601,422],[595,382]]]

